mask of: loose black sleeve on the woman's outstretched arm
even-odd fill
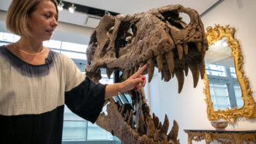
[[[81,118],[94,123],[105,102],[106,84],[95,84],[88,77],[71,91],[65,92],[65,104]]]

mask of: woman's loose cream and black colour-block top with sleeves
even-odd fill
[[[32,65],[0,47],[0,143],[61,144],[64,104],[95,122],[106,85],[85,77],[74,62],[50,50]]]

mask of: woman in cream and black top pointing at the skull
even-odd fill
[[[13,0],[6,26],[21,38],[0,48],[0,143],[61,143],[64,104],[95,122],[107,98],[145,84],[142,67],[119,84],[95,84],[43,46],[57,27],[56,0]]]

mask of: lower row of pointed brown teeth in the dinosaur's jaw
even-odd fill
[[[167,115],[165,115],[164,118],[164,124],[162,125],[161,122],[159,122],[159,118],[154,115],[153,118],[150,118],[148,121],[144,122],[144,114],[143,111],[140,111],[138,118],[137,118],[137,124],[135,128],[135,123],[133,122],[133,110],[124,112],[124,106],[119,107],[119,113],[122,115],[123,120],[130,125],[131,129],[133,129],[135,132],[137,132],[140,136],[147,135],[147,139],[143,139],[144,142],[147,141],[147,143],[154,143],[154,142],[162,142],[162,143],[168,143],[169,141],[176,140],[177,134],[178,134],[178,123],[174,121],[173,127],[169,134],[168,127],[169,127],[169,120]],[[146,128],[146,129],[145,129]]]

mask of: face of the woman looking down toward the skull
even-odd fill
[[[42,0],[29,15],[29,31],[33,38],[49,40],[57,27],[57,12],[54,2]]]

